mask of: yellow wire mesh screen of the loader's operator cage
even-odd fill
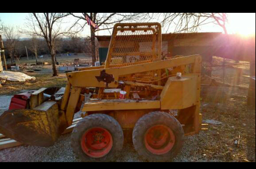
[[[158,25],[118,25],[114,28],[108,55],[109,65],[132,65],[134,62],[160,60],[158,41],[161,30]],[[160,33],[160,34],[159,34]]]

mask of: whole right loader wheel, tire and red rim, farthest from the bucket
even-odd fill
[[[179,121],[162,111],[150,112],[135,124],[132,140],[135,150],[152,162],[170,161],[180,152],[184,131]]]

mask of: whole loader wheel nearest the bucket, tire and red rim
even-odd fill
[[[111,116],[84,117],[71,134],[71,147],[82,162],[112,162],[123,148],[122,127]]]

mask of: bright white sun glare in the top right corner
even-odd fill
[[[229,34],[255,35],[255,13],[229,13],[228,16]]]

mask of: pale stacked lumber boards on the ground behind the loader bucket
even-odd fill
[[[66,130],[62,134],[70,133],[73,131],[73,128],[76,126],[76,124],[81,120],[82,118],[76,118],[73,120],[73,123],[71,126],[67,127]],[[16,140],[6,138],[5,135],[0,133],[0,150],[5,149],[5,148],[10,148],[10,147],[15,147],[15,146],[20,146],[22,145],[21,142],[18,142]]]

